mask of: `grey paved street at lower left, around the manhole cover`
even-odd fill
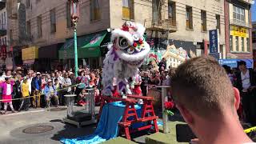
[[[66,110],[62,111],[45,111],[34,110],[25,113],[1,115],[0,119],[0,139],[1,144],[45,144],[60,143],[59,139],[76,138],[92,134],[95,126],[86,126],[80,129],[62,123],[62,118],[66,116]],[[53,126],[54,130],[50,130],[42,134],[25,134],[22,132],[27,127],[43,125]]]

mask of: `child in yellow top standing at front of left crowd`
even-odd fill
[[[27,78],[24,77],[23,78],[23,82],[22,82],[22,103],[20,108],[18,109],[18,111],[21,110],[29,110],[29,106],[30,106],[30,98],[27,98],[30,96],[30,88],[29,88],[29,83],[27,82]]]

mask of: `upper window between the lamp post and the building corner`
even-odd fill
[[[90,21],[101,19],[99,0],[90,0]]]

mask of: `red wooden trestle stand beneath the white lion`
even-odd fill
[[[137,99],[142,99],[143,101],[141,118],[138,117],[137,111],[135,109],[135,104],[138,102]],[[105,106],[106,103],[122,101],[126,103],[126,107],[124,114],[122,115],[122,121],[118,122],[121,134],[125,134],[126,138],[130,140],[130,133],[134,133],[136,131],[149,130],[151,127],[154,127],[154,131],[158,132],[158,116],[156,116],[154,113],[154,106],[152,104],[153,100],[154,98],[152,97],[143,97],[138,95],[128,95],[127,98],[111,98],[107,96],[101,96],[101,107],[98,114],[98,120],[101,117],[103,106]],[[145,122],[146,126],[143,125],[133,129],[131,125],[138,122]]]

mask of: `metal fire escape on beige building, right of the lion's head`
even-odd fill
[[[170,33],[177,31],[174,9],[168,0],[152,0],[152,18],[145,19],[144,26],[150,38],[155,38],[155,45],[158,45],[159,38],[168,39]]]

